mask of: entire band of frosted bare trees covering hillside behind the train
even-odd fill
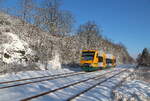
[[[4,3],[2,0],[1,7]],[[75,29],[74,15],[62,10],[61,4],[61,0],[18,0],[17,8],[5,6],[1,11],[22,20],[11,29],[30,44],[40,61],[49,61],[53,51],[57,50],[62,64],[76,64],[79,63],[81,49],[98,49],[114,54],[118,64],[133,61],[126,47],[104,38],[94,21],[87,21]]]

